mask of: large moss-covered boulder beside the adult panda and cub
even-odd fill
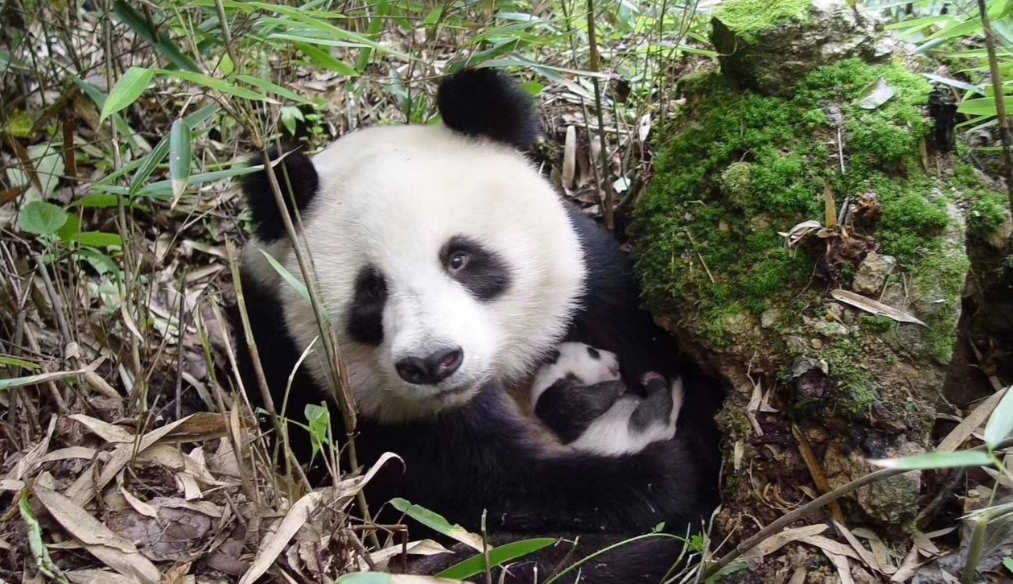
[[[783,500],[812,484],[799,440],[832,486],[868,472],[869,457],[929,446],[966,231],[975,234],[1005,216],[991,208],[995,193],[927,147],[932,88],[903,66],[842,61],[810,71],[790,96],[742,92],[724,73],[684,82],[686,105],[656,139],[630,233],[649,308],[733,390],[719,415],[734,467],[725,505],[766,522],[776,509],[759,477]],[[891,96],[870,102],[876,87]],[[873,252],[890,269],[877,289],[859,287],[899,318],[835,298],[854,289]],[[745,468],[753,480],[734,479]],[[904,531],[918,482],[863,490],[846,507]]]

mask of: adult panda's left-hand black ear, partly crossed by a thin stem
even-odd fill
[[[278,179],[278,185],[282,188],[282,194],[285,196],[289,217],[294,218],[292,201],[295,201],[296,208],[302,213],[317,193],[320,178],[317,176],[316,168],[313,166],[313,161],[302,150],[290,150],[282,153],[278,149],[271,148],[267,154],[271,161],[278,161],[284,156],[281,161],[275,164],[275,177]],[[249,160],[250,165],[258,165],[261,162],[262,159],[259,155]],[[270,188],[267,170],[258,170],[243,177],[242,189],[246,196],[246,206],[249,207],[253,218],[253,233],[256,234],[257,238],[264,243],[270,243],[285,237],[285,222],[278,212],[278,202],[275,200],[275,192]]]

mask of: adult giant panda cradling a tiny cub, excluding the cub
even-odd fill
[[[526,158],[539,120],[520,86],[465,70],[444,79],[437,105],[442,124],[357,131],[312,158],[275,153],[347,366],[360,461],[403,460],[373,480],[368,500],[403,497],[471,529],[487,511],[493,538],[698,528],[713,477],[692,436],[612,456],[532,437],[509,391],[560,341],[617,353],[630,385],[648,370],[674,372],[665,371],[673,353],[639,308],[618,242]],[[264,257],[302,277],[266,174],[242,189],[254,226],[240,278],[250,327],[275,403],[299,419],[325,399],[319,343],[290,380],[318,327]],[[252,388],[247,353],[238,351]],[[290,433],[297,451],[307,446],[304,431]],[[656,582],[680,550],[625,547],[581,581]]]

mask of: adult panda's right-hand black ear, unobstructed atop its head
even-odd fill
[[[539,135],[531,96],[494,69],[465,69],[444,78],[437,91],[437,107],[454,132],[488,138],[522,152]]]

